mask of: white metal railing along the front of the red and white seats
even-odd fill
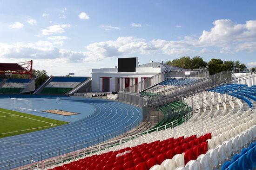
[[[191,115],[191,113],[188,113],[188,114]],[[183,117],[186,117],[186,118],[184,118],[184,120],[187,120],[187,121],[189,120],[189,119],[187,119],[189,116],[185,115]],[[7,169],[2,169],[4,167],[0,165],[0,170],[11,170],[11,169],[12,170],[20,170],[20,169],[45,170],[45,168],[50,168],[50,166],[52,166],[54,164],[64,163],[66,161],[74,160],[74,159],[79,158],[79,157],[84,157],[88,154],[92,154],[92,153],[97,152],[97,151],[102,151],[102,150],[108,149],[108,148],[113,147],[113,146],[121,145],[121,144],[123,144],[125,142],[128,142],[130,140],[139,138],[139,137],[141,137],[145,134],[148,134],[148,133],[151,133],[151,132],[158,132],[158,131],[166,130],[168,128],[173,128],[173,127],[176,127],[176,126],[178,126],[178,120],[175,120],[175,121],[170,122],[170,123],[168,123],[166,125],[163,125],[163,126],[156,127],[154,129],[150,129],[146,132],[141,132],[141,133],[138,133],[138,134],[135,134],[135,135],[132,135],[132,136],[124,137],[124,138],[121,138],[121,139],[118,139],[118,140],[115,140],[115,141],[110,141],[110,142],[107,142],[107,143],[105,142],[104,144],[96,145],[94,147],[90,147],[90,148],[87,148],[87,149],[80,149],[78,151],[71,151],[69,153],[66,153],[66,154],[63,154],[63,155],[56,155],[52,158],[46,158],[46,159],[41,160],[41,161],[36,161],[34,159],[31,159],[30,163],[27,164],[27,165],[20,165],[20,166],[12,167],[13,164],[8,164],[8,165],[5,166]]]

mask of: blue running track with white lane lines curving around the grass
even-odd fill
[[[26,96],[22,95],[2,96],[2,98],[0,96],[0,103],[10,100],[10,97],[26,98]],[[57,101],[57,97],[61,101]],[[18,163],[20,159],[22,160],[22,165],[30,164],[31,156],[34,155],[32,159],[39,161],[40,159],[79,150],[97,144],[97,139],[103,135],[112,134],[114,137],[118,135],[115,134],[116,131],[142,120],[141,108],[117,101],[38,95],[29,96],[27,99],[33,101],[33,108],[37,110],[34,113],[28,112],[30,114],[54,118],[52,116],[56,116],[55,114],[43,113],[41,110],[57,109],[61,107],[59,105],[61,102],[63,102],[62,105],[64,107],[64,109],[61,107],[61,110],[80,114],[74,115],[74,120],[70,120],[71,123],[63,126],[0,139],[0,167],[7,165],[6,162],[10,161],[12,161],[11,164],[17,163],[12,167],[18,166],[20,165]],[[36,100],[40,102],[34,102]],[[9,104],[6,103],[1,107],[10,109],[12,105],[9,101]],[[58,115],[54,119],[64,120],[65,117],[68,116]],[[92,141],[93,139],[96,140]],[[91,142],[88,143],[87,141]],[[101,141],[102,139],[99,140],[99,142]],[[41,153],[43,154],[41,155]],[[5,169],[0,168],[0,170]]]

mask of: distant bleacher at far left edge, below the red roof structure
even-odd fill
[[[0,80],[2,82],[4,80]],[[29,84],[29,79],[8,79],[0,88],[0,94],[19,94]]]

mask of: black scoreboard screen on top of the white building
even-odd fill
[[[118,72],[135,72],[137,57],[118,58]]]

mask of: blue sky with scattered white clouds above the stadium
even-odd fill
[[[0,0],[0,62],[90,76],[118,57],[256,66],[255,0]]]

